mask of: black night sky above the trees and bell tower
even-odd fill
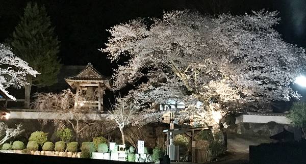
[[[0,0],[0,43],[12,34],[28,1]],[[40,0],[61,41],[59,57],[64,65],[91,62],[110,76],[116,64],[98,51],[109,37],[111,26],[137,17],[161,17],[163,11],[191,9],[201,13],[219,11],[244,14],[251,10],[279,11],[282,21],[276,26],[283,39],[306,48],[306,1],[304,0]],[[215,2],[215,4],[213,3]]]

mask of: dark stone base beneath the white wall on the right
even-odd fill
[[[268,123],[249,123],[242,122],[236,124],[236,133],[247,135],[274,135],[282,132],[284,128],[287,128],[287,124],[277,124],[276,122]]]

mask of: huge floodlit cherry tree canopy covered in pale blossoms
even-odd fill
[[[273,29],[276,16],[173,11],[152,24],[136,19],[113,26],[101,51],[112,62],[131,58],[115,71],[115,90],[147,79],[127,95],[135,105],[152,109],[177,98],[185,103],[174,111],[178,120],[216,129],[228,113],[300,97],[290,84],[305,70],[304,49],[283,41]]]

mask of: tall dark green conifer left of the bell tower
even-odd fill
[[[45,87],[57,83],[61,67],[57,57],[59,43],[45,7],[28,3],[11,42],[13,52],[40,73],[36,78],[28,77],[29,85],[24,87],[24,107],[30,106],[32,85]]]

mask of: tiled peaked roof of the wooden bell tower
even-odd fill
[[[77,84],[104,84],[106,88],[111,89],[109,78],[101,75],[91,63],[88,63],[86,68],[83,69],[78,75],[65,78],[65,81],[75,88]]]

